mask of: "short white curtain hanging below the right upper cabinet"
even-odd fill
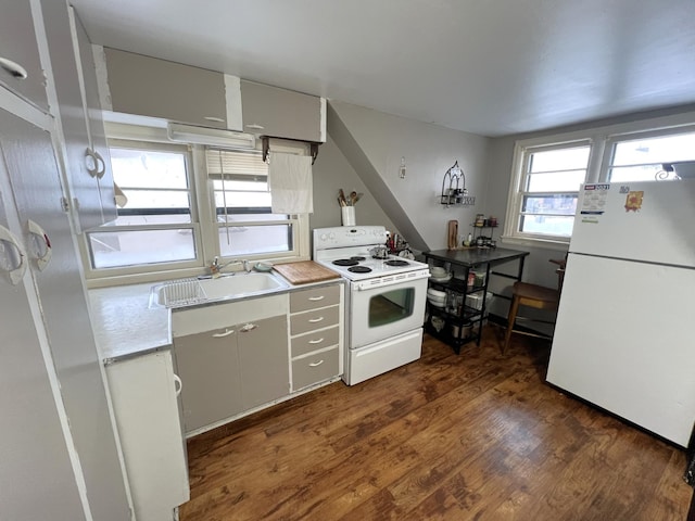
[[[314,213],[312,158],[307,155],[270,152],[268,185],[274,214]]]

